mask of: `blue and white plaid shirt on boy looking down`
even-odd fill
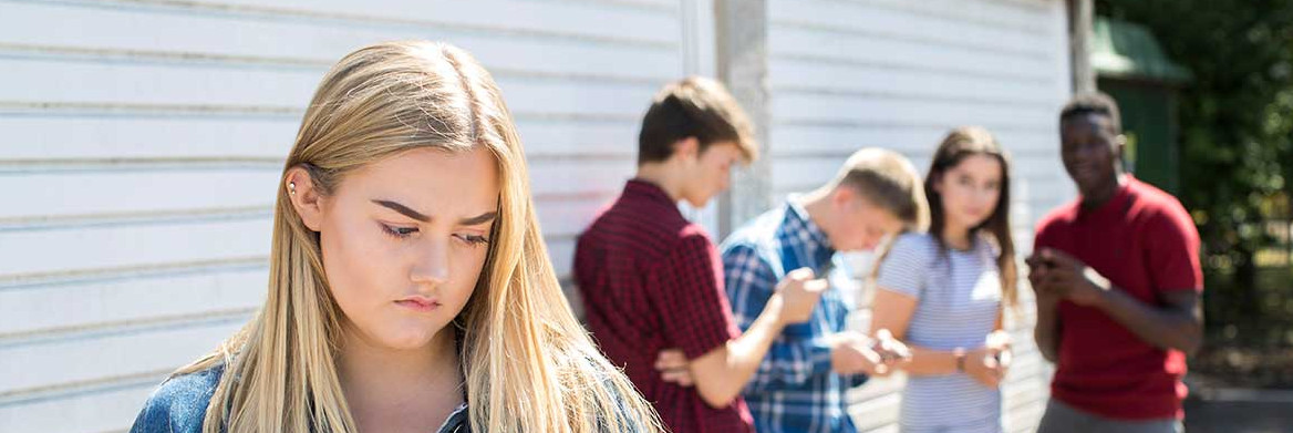
[[[736,230],[720,248],[728,300],[742,331],[763,313],[786,273],[809,268],[824,278],[835,269],[826,234],[794,200]],[[787,326],[777,336],[743,392],[758,432],[856,432],[844,393],[866,376],[833,372],[826,343],[846,330],[848,312],[843,293],[833,286],[807,323]]]

